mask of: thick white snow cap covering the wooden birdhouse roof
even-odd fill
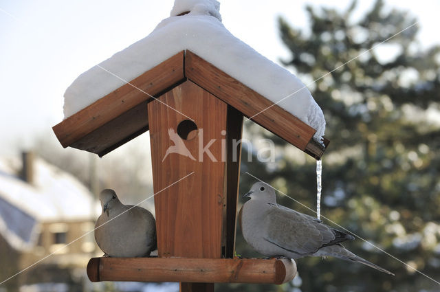
[[[184,16],[174,16],[190,11]],[[218,14],[218,15],[217,15]],[[176,0],[168,19],[151,34],[99,64],[123,80],[133,80],[175,54],[189,49],[316,129],[325,131],[322,110],[296,76],[261,56],[221,23],[214,0]],[[92,104],[124,81],[98,66],[81,74],[65,92],[65,117]],[[288,98],[286,98],[288,97]]]

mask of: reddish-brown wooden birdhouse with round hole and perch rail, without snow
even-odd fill
[[[243,117],[316,159],[325,150],[314,128],[190,51],[54,126],[64,147],[99,156],[145,131],[151,137],[158,258],[91,259],[92,281],[213,291],[214,282],[292,280],[293,260],[234,258]]]

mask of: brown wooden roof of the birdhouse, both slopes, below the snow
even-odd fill
[[[179,52],[53,127],[64,148],[100,157],[148,131],[147,104],[191,80],[245,117],[319,159],[316,130],[190,51]],[[325,139],[325,146],[329,141]]]

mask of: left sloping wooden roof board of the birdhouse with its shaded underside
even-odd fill
[[[148,129],[146,127],[148,125],[144,123],[145,120],[139,117],[131,119],[130,115],[124,115],[142,102],[152,100],[146,93],[151,96],[159,95],[183,82],[184,79],[184,52],[180,52],[131,80],[131,85],[123,85],[57,124],[53,127],[54,133],[63,147],[73,145],[76,148],[100,153],[105,148],[111,148],[112,145],[130,137],[140,128],[144,128],[145,131]],[[146,111],[139,114],[146,115]],[[103,127],[121,115],[122,117],[113,123],[113,126],[120,126],[116,135],[111,124]],[[131,122],[137,124],[124,127],[124,124],[128,125]],[[85,141],[81,142],[83,138]]]

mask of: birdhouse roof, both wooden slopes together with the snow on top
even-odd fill
[[[193,69],[212,72],[210,79],[194,80],[195,74],[191,75],[186,67],[188,56],[199,57],[192,58],[197,59]],[[320,139],[325,120],[307,87],[230,34],[219,19],[199,10],[164,19],[146,38],[81,74],[65,92],[68,118],[54,131],[63,146],[102,156],[148,130],[146,103],[151,96],[159,97],[187,79],[234,107],[247,100],[252,109],[236,109],[301,150],[307,148],[313,132],[311,136],[318,143],[311,142],[314,150],[308,151],[314,157],[322,155]],[[228,86],[234,89],[237,83],[242,93],[239,96],[214,90]],[[276,110],[270,111],[268,106]],[[279,115],[284,117],[281,124],[271,127],[265,122],[277,120]],[[292,124],[297,126],[289,128]],[[105,135],[112,128],[111,135],[118,137]],[[298,142],[294,136],[307,141]]]

